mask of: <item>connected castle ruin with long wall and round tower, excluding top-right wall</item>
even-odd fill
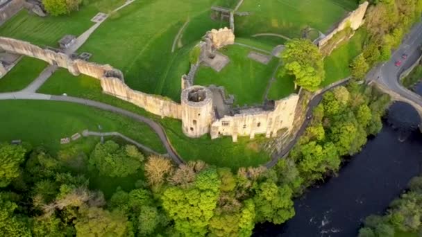
[[[212,58],[212,54],[217,53],[217,49],[234,44],[235,35],[232,30],[223,28],[209,31],[204,39],[205,42],[201,46],[201,57]],[[211,134],[212,139],[232,136],[233,141],[237,141],[238,136],[248,136],[253,139],[255,134],[275,137],[278,130],[289,130],[292,127],[294,110],[298,102],[298,95],[293,94],[288,98],[275,101],[270,109],[254,107],[239,109],[231,114],[228,112],[218,114],[217,107],[220,105],[214,104],[214,101],[217,101],[216,99],[222,96],[223,92],[214,93],[214,91],[219,91],[217,87],[207,88],[193,85],[193,76],[191,81],[186,80],[187,76],[182,77],[181,103],[176,103],[163,96],[130,89],[124,83],[123,73],[108,64],[86,62],[61,51],[42,49],[31,43],[7,37],[0,37],[0,49],[8,53],[44,60],[49,64],[69,70],[69,73],[74,76],[84,74],[97,78],[101,80],[101,87],[105,94],[126,100],[162,118],[180,119],[183,132],[187,137]],[[194,67],[195,65],[192,65],[193,69]],[[223,100],[226,101],[226,98]],[[220,111],[228,111],[224,109],[226,108],[220,108]]]

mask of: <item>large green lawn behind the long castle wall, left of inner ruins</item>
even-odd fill
[[[180,77],[189,71],[187,53],[207,30],[224,26],[212,21],[214,0],[142,0],[108,19],[80,51],[91,60],[121,69],[133,89],[180,100]],[[173,42],[183,24],[176,51]]]

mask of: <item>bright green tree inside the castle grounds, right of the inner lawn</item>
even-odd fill
[[[310,40],[292,40],[287,42],[282,52],[284,69],[279,76],[289,73],[295,77],[295,85],[308,91],[316,91],[324,79],[323,57]]]

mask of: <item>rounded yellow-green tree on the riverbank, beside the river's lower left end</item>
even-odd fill
[[[263,182],[255,190],[256,220],[258,222],[284,223],[294,216],[292,189],[287,185],[278,187],[273,182]]]

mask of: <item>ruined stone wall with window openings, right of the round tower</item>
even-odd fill
[[[298,105],[299,96],[292,94],[282,100],[276,100],[275,108],[271,111],[262,109],[248,109],[234,116],[224,116],[211,125],[211,138],[232,136],[237,141],[238,136],[265,134],[266,137],[276,137],[283,128],[290,130],[294,122],[294,112]]]

